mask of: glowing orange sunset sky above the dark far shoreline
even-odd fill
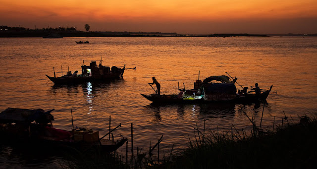
[[[317,0],[0,0],[0,24],[34,29],[317,33]]]

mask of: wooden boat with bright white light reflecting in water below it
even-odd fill
[[[84,60],[85,61],[85,60]],[[84,83],[84,82],[93,82],[93,81],[105,81],[109,79],[116,79],[116,78],[122,78],[125,68],[125,65],[122,68],[119,68],[117,66],[112,66],[111,69],[109,66],[103,66],[102,60],[96,60],[100,61],[99,66],[97,66],[97,63],[95,60],[90,62],[90,65],[83,65],[81,66],[82,72],[79,75],[72,76],[70,74],[66,74],[61,77],[55,76],[55,70],[54,70],[54,77],[51,77],[49,75],[46,75],[54,84],[78,84],[78,83]],[[133,69],[136,69],[135,67]]]

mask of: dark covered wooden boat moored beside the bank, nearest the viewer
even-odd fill
[[[70,147],[79,151],[92,149],[113,152],[127,141],[105,140],[99,131],[75,128],[70,131],[53,128],[53,110],[8,108],[0,113],[1,142],[41,148]],[[113,131],[113,130],[112,130]],[[104,136],[105,137],[105,136]]]

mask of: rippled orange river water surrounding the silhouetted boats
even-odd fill
[[[75,41],[90,41],[76,44]],[[68,70],[80,71],[83,59],[100,60],[106,66],[137,67],[126,70],[124,78],[108,83],[54,86],[45,74],[56,76]],[[87,63],[88,64],[88,63]],[[187,89],[193,82],[212,75],[238,78],[242,86],[259,83],[261,89],[273,85],[264,107],[263,124],[280,123],[283,111],[294,120],[298,115],[317,112],[317,38],[316,37],[115,37],[115,38],[1,38],[0,39],[0,111],[8,107],[44,109],[53,112],[54,127],[71,128],[74,124],[100,131],[121,123],[115,139],[130,139],[133,123],[136,147],[147,151],[150,141],[161,135],[161,151],[186,147],[196,124],[216,131],[217,128],[248,128],[250,121],[243,111],[255,113],[260,121],[263,105],[152,105],[140,93],[151,94],[147,84],[155,76],[161,94],[176,94],[178,82]],[[240,86],[237,85],[237,89]],[[5,138],[1,138],[5,139]],[[130,146],[130,145],[129,145]],[[130,148],[129,148],[130,149]],[[124,152],[120,148],[119,152]],[[55,158],[30,159],[1,147],[0,164],[23,168],[58,168]]]

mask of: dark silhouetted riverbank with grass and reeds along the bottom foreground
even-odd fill
[[[252,121],[252,120],[251,120]],[[252,121],[255,124],[255,121]],[[274,126],[274,128],[273,128]],[[300,123],[285,116],[281,124],[247,131],[206,132],[196,128],[188,148],[180,154],[164,154],[160,162],[152,153],[124,159],[124,155],[95,154],[81,157],[64,168],[157,168],[157,169],[313,169],[317,159],[317,119],[302,116]],[[151,147],[150,147],[151,148]],[[153,149],[157,147],[152,147]],[[89,160],[88,160],[89,159]],[[124,162],[125,161],[125,162]],[[159,165],[158,165],[159,164]]]

